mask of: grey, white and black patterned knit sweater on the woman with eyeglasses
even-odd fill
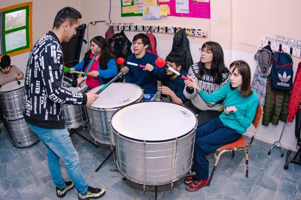
[[[229,81],[229,73],[223,73],[222,74],[222,83],[221,84],[215,84],[213,83],[213,77],[211,76],[210,70],[205,68],[206,74],[203,75],[202,80],[197,79],[197,74],[199,73],[199,65],[194,64],[191,65],[187,75],[191,76],[197,81],[197,85],[206,92],[207,94],[210,94],[220,88],[222,88],[224,85],[226,85]],[[206,111],[206,110],[213,110],[218,111],[223,107],[222,104],[216,103],[213,106],[208,106],[206,102],[200,97],[200,95],[197,94],[197,91],[195,89],[190,89],[187,86],[185,86],[184,89],[184,95],[187,99],[190,99],[192,104],[198,108],[199,110]]]

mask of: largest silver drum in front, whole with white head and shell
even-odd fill
[[[197,117],[171,102],[139,102],[111,118],[116,166],[143,185],[164,185],[184,177],[193,160]]]

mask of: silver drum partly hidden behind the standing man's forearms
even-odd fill
[[[80,92],[86,93],[87,85],[81,87],[81,90],[78,90],[78,87],[64,87],[71,92]],[[66,129],[75,129],[79,126],[82,126],[87,122],[87,114],[85,111],[85,105],[64,105],[64,120]]]

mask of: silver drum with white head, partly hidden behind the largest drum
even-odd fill
[[[91,92],[97,92],[102,86],[98,86]],[[89,91],[89,92],[90,92]],[[141,87],[132,83],[112,83],[99,98],[89,107],[88,117],[94,139],[103,144],[114,144],[113,132],[110,128],[111,116],[125,105],[140,102],[143,97]]]

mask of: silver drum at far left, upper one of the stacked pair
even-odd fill
[[[0,88],[0,104],[3,116],[7,120],[17,120],[23,117],[24,79],[12,81]]]

